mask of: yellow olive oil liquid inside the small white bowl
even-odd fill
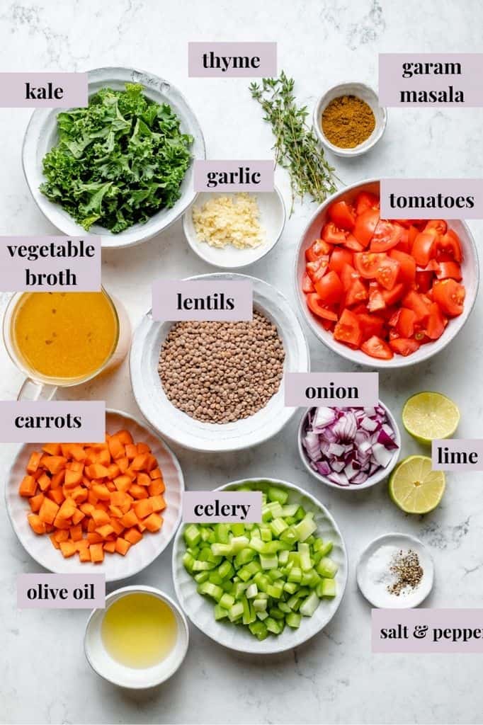
[[[102,642],[114,660],[132,668],[152,667],[170,654],[178,624],[173,610],[151,594],[128,594],[104,614]]]

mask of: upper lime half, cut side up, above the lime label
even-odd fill
[[[420,443],[450,438],[460,422],[458,407],[441,393],[424,392],[412,395],[402,408],[402,423]]]

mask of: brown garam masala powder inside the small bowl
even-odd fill
[[[353,149],[362,144],[375,127],[373,110],[357,96],[332,99],[322,114],[323,133],[340,149]]]

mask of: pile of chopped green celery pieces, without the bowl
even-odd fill
[[[247,626],[259,640],[297,629],[321,599],[337,595],[332,542],[317,537],[314,514],[286,490],[262,485],[261,523],[193,523],[183,531],[183,566],[213,601],[215,620]]]

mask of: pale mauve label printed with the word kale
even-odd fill
[[[87,73],[0,73],[1,108],[73,108],[87,104]]]

